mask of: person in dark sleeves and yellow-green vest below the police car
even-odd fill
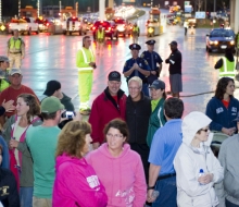
[[[221,58],[216,62],[214,68],[219,69],[219,77],[235,78],[236,61],[235,61],[235,58],[234,58],[232,50],[230,48],[227,48],[225,50],[225,57]]]

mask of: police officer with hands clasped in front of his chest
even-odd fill
[[[138,44],[131,44],[129,49],[131,50],[133,58],[125,62],[123,74],[125,77],[127,77],[127,82],[134,76],[140,77],[143,83],[142,92],[146,96],[149,96],[149,85],[146,82],[146,77],[150,75],[151,69],[147,60],[139,57],[139,50],[141,47]]]

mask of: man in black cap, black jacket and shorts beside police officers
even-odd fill
[[[181,81],[181,52],[177,49],[177,41],[172,41],[171,56],[165,60],[169,64],[169,83],[173,97],[179,98],[179,93],[183,92]]]

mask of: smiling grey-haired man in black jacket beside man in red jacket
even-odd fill
[[[147,133],[151,114],[151,101],[141,89],[141,78],[131,77],[128,82],[129,96],[126,100],[126,122],[129,129],[130,148],[140,155],[148,181],[150,149],[147,145]]]

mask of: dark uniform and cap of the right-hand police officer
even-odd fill
[[[155,40],[148,40],[146,44],[147,45],[154,45],[156,41]],[[158,64],[161,64],[163,62],[163,60],[161,59],[160,54],[155,51],[143,51],[140,56],[141,58],[143,58],[144,60],[147,60],[147,62],[149,63],[150,65],[150,69],[152,71],[156,71],[156,75],[160,76],[160,71],[159,71],[159,66],[156,65]]]

